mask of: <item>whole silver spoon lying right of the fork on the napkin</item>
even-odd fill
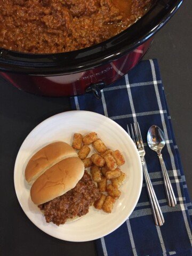
[[[165,146],[165,136],[163,131],[158,126],[152,125],[147,133],[147,142],[149,147],[157,152],[163,173],[167,202],[169,206],[174,207],[175,205],[177,205],[177,201],[161,154],[161,150]]]

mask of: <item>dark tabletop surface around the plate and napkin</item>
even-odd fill
[[[185,0],[180,10],[157,33],[145,59],[158,59],[175,137],[188,189],[192,196],[190,10],[192,10],[192,1]],[[45,118],[69,110],[69,100],[31,95],[15,89],[2,78],[0,78],[0,84],[0,166],[1,195],[3,195],[1,196],[1,205],[3,205],[0,231],[1,255],[34,256],[38,248],[38,255],[96,256],[94,242],[61,241],[39,230],[23,213],[14,191],[13,167],[22,141]],[[8,198],[6,195],[9,195]]]

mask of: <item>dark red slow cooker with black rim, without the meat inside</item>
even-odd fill
[[[142,59],[153,35],[183,0],[157,0],[131,27],[100,44],[57,54],[0,49],[0,75],[18,89],[46,96],[94,93],[125,75]]]

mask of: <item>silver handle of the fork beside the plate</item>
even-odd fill
[[[145,162],[142,162],[142,169],[143,169],[143,173],[144,173],[144,177],[145,177],[145,181],[146,181],[146,187],[147,187],[147,191],[148,191],[150,205],[151,205],[152,212],[153,212],[155,225],[162,226],[165,222],[163,213],[162,213],[159,203],[157,201],[157,197],[156,197],[153,185],[151,183]]]

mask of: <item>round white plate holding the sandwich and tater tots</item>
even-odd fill
[[[30,186],[24,177],[29,158],[46,144],[61,140],[71,145],[73,134],[95,131],[111,149],[119,149],[125,164],[121,170],[127,174],[120,188],[113,212],[108,214],[90,207],[83,218],[60,225],[46,223],[43,213],[30,199]],[[108,235],[130,216],[138,202],[142,187],[142,167],[138,151],[129,135],[111,119],[90,111],[68,111],[46,119],[29,133],[19,150],[14,166],[14,186],[19,203],[27,217],[45,233],[66,241],[91,241]]]

